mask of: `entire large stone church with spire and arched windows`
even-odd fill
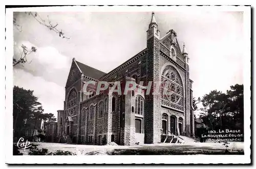
[[[58,142],[134,145],[161,142],[172,134],[195,136],[193,81],[185,45],[181,50],[174,30],[160,38],[154,13],[146,33],[146,48],[109,73],[73,59],[64,107],[58,110]],[[83,87],[89,81],[105,81],[110,86],[99,94],[89,86],[88,95]],[[109,94],[116,81],[122,89],[126,82],[134,81],[136,89]],[[147,94],[145,86],[150,82],[165,85],[159,90],[152,85]]]

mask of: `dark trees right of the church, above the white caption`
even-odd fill
[[[200,100],[203,105],[200,118],[210,130],[243,130],[243,85],[236,84],[230,88],[226,93],[212,90]]]

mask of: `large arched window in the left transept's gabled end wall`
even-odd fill
[[[69,115],[76,115],[76,106],[77,106],[77,93],[75,89],[72,89],[69,94],[67,110]]]

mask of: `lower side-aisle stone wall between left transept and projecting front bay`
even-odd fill
[[[112,98],[115,97],[115,111],[112,110]],[[98,104],[103,102],[103,117],[99,118]],[[94,118],[89,120],[89,108],[94,107]],[[119,96],[115,93],[113,95],[101,94],[94,96],[92,99],[81,104],[81,109],[87,108],[86,122],[81,123],[81,128],[84,128],[85,142],[91,144],[99,143],[99,136],[106,136],[106,143],[111,141],[111,135],[114,135],[114,141],[119,143],[120,130],[120,101]],[[85,126],[86,125],[86,126]],[[83,130],[81,130],[83,131]],[[92,136],[93,142],[89,142],[89,137]]]

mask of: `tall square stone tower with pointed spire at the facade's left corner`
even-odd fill
[[[159,82],[160,74],[160,31],[152,12],[150,25],[147,33],[147,53],[146,53],[146,85],[150,90],[145,95],[145,143],[160,142],[160,98],[159,91],[154,91],[154,84]],[[151,87],[151,88],[150,88]]]

